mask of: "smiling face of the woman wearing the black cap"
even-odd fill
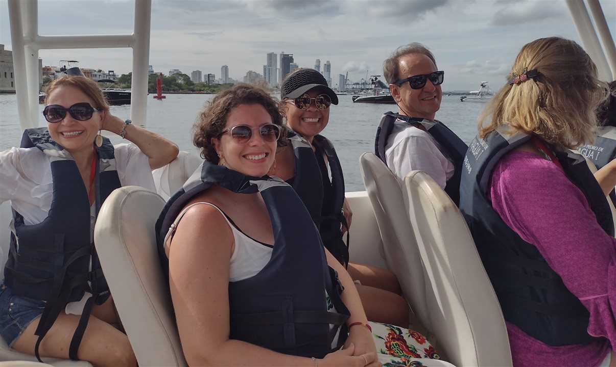
[[[322,93],[324,92],[318,87],[306,92],[310,98],[317,98]],[[318,109],[314,100],[310,101],[308,109],[299,109],[295,106],[293,100],[286,100],[285,115],[289,127],[312,143],[312,138],[327,126],[330,120],[330,109]]]

